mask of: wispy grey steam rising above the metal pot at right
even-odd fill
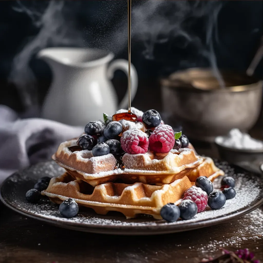
[[[190,45],[195,46],[197,55],[207,60],[220,86],[224,87],[225,83],[218,70],[214,52],[214,42],[219,42],[217,21],[221,7],[222,4],[218,1],[144,1],[139,6],[132,7],[131,34],[133,41],[144,44],[143,55],[146,59],[156,58],[154,55],[156,45],[168,41],[180,43],[181,49]],[[200,20],[204,23],[204,43],[193,30],[195,24]],[[118,53],[126,47],[127,30],[125,27],[127,27],[126,17],[119,23],[115,32],[111,32],[108,40],[104,41],[104,48],[113,49]],[[112,43],[114,43],[114,47]],[[184,68],[203,66],[198,64],[201,59],[197,60],[194,61],[191,58],[182,60],[181,66]]]

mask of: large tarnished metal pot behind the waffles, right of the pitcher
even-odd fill
[[[232,128],[249,130],[262,103],[262,81],[240,73],[221,71],[220,87],[212,70],[191,68],[161,80],[164,112],[180,123],[192,139],[214,141]]]

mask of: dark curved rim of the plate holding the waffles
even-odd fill
[[[10,177],[12,177],[15,174],[21,175],[19,171],[9,175],[0,186],[0,200],[7,208],[19,214],[22,214],[24,216],[45,222],[50,225],[54,225],[54,226],[58,226],[58,227],[66,228],[66,229],[83,231],[83,232],[93,232],[93,233],[111,234],[111,235],[159,235],[159,234],[169,234],[169,233],[190,231],[190,230],[208,227],[208,226],[221,224],[221,223],[230,221],[232,219],[238,218],[242,215],[252,212],[253,210],[257,209],[259,206],[263,204],[263,192],[261,191],[261,193],[257,195],[258,200],[256,199],[253,200],[252,202],[254,202],[254,204],[248,205],[245,209],[241,208],[227,215],[222,215],[218,218],[203,219],[197,222],[189,222],[189,223],[186,222],[183,225],[181,224],[176,225],[176,224],[169,224],[169,223],[165,225],[149,225],[149,226],[147,225],[114,226],[114,225],[88,224],[88,223],[82,224],[81,222],[70,222],[70,221],[56,220],[55,218],[44,218],[41,215],[36,215],[33,213],[29,213],[27,211],[17,209],[16,207],[7,203],[2,196],[2,186],[8,180],[10,180]],[[256,179],[259,179],[261,183],[263,183],[263,181],[257,176],[254,175],[254,177]],[[154,230],[154,231],[150,231],[150,230]]]

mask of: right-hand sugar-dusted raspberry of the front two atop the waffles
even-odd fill
[[[168,153],[174,146],[174,131],[171,126],[160,124],[149,137],[150,150],[156,153]]]

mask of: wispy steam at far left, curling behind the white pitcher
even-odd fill
[[[19,90],[25,106],[37,103],[35,76],[29,67],[32,55],[47,46],[78,45],[83,44],[80,32],[76,31],[73,24],[65,19],[63,9],[64,1],[52,0],[43,12],[34,8],[27,8],[20,1],[14,10],[25,12],[37,28],[40,28],[36,37],[29,41],[13,59],[8,80],[14,83]]]

